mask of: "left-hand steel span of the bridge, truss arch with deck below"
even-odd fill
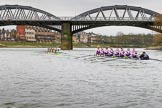
[[[31,6],[0,6],[0,26],[31,25],[45,27],[60,32],[61,26],[58,23],[59,21],[59,17]]]

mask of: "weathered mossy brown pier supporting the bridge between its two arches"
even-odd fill
[[[73,50],[72,31],[71,31],[70,22],[64,22],[62,24],[61,49],[62,50]]]

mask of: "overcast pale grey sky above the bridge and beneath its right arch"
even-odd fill
[[[45,10],[56,16],[75,16],[82,12],[111,5],[131,5],[162,13],[162,0],[0,0],[0,5],[19,4]],[[100,27],[87,32],[115,35],[123,33],[152,33],[150,30],[135,27]]]

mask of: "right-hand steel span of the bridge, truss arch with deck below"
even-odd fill
[[[162,25],[154,26],[154,18],[157,15],[160,14],[142,7],[128,5],[104,6],[73,17],[71,19],[74,23],[72,32],[77,33],[102,26],[135,26],[162,33]]]

